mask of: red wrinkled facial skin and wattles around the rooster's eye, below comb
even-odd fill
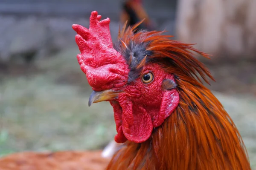
[[[116,90],[123,90],[116,101],[111,101],[114,109],[118,143],[146,141],[154,127],[160,126],[179,103],[176,89],[163,90],[162,82],[173,75],[166,73],[157,63],[144,66],[142,76],[151,72],[153,80],[145,84],[141,77]]]

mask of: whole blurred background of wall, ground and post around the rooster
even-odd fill
[[[116,134],[108,102],[92,91],[76,55],[73,23],[111,18],[123,0],[0,0],[0,156],[24,150],[101,149]],[[197,43],[216,79],[208,86],[233,118],[256,167],[256,0],[143,0],[157,30]]]

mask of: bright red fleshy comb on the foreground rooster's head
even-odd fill
[[[72,26],[78,34],[76,43],[81,52],[77,55],[78,62],[94,90],[123,86],[128,77],[125,59],[113,48],[110,19],[100,19],[101,15],[93,11],[89,29],[77,24]]]

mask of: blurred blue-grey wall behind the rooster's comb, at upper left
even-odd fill
[[[111,36],[117,39],[122,0],[0,0],[0,62],[20,56],[48,56],[76,46],[77,23],[89,26],[94,10],[111,18]],[[143,0],[149,17],[158,30],[175,34],[176,1]],[[15,59],[12,59],[15,58]]]

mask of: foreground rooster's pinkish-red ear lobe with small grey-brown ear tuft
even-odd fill
[[[177,84],[173,80],[166,79],[163,81],[162,88],[166,91],[163,94],[160,111],[155,120],[153,121],[154,127],[159,127],[178,106],[180,101],[180,95],[175,87],[177,87]]]

